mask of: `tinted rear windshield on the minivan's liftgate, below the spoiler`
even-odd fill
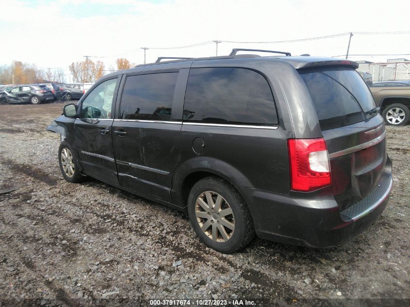
[[[353,68],[322,67],[300,70],[311,94],[320,128],[328,130],[359,123],[377,113],[373,96]]]

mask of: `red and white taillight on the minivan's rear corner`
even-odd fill
[[[291,189],[310,192],[331,184],[325,140],[289,139]]]

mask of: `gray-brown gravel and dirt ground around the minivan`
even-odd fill
[[[256,239],[223,255],[198,242],[184,213],[63,180],[59,135],[46,131],[62,106],[0,106],[0,190],[19,187],[0,194],[0,306],[410,306],[409,125],[388,127],[393,193],[365,233],[326,250]]]

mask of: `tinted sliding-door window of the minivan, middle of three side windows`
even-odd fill
[[[171,120],[171,107],[178,72],[127,76],[119,118]]]

